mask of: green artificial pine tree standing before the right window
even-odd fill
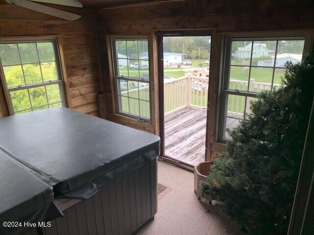
[[[263,92],[200,184],[203,197],[254,235],[286,235],[314,95],[314,51],[286,64],[281,88]]]

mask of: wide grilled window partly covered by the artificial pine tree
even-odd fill
[[[265,90],[281,85],[285,63],[301,62],[305,38],[228,38],[220,102],[218,139],[230,139],[227,129],[237,127],[250,102]],[[258,49],[262,49],[262,53]],[[276,63],[275,63],[276,61]]]

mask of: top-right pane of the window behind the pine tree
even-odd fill
[[[287,61],[301,63],[304,40],[282,40],[278,42],[276,67],[285,67]]]

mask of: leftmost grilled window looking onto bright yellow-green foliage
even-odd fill
[[[12,114],[63,106],[55,41],[0,42],[2,84]]]

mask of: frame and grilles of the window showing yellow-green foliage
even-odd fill
[[[55,67],[56,67],[58,80],[8,88],[7,87],[7,83],[6,83],[6,79],[5,79],[4,69],[3,69],[3,66],[2,66],[2,62],[0,60],[0,80],[1,80],[0,82],[2,83],[2,87],[3,87],[3,91],[4,91],[4,94],[5,94],[6,100],[7,100],[7,106],[8,106],[8,110],[9,110],[9,114],[10,115],[14,115],[15,114],[10,92],[22,91],[22,90],[27,90],[27,89],[36,88],[36,87],[45,87],[45,86],[49,86],[49,85],[58,84],[59,85],[59,90],[60,90],[61,101],[54,102],[54,103],[60,103],[61,102],[62,103],[62,107],[66,107],[67,106],[67,100],[66,100],[66,94],[65,94],[65,84],[64,84],[63,74],[62,74],[61,59],[60,59],[57,39],[55,37],[53,37],[53,38],[47,38],[47,37],[44,37],[44,38],[40,38],[40,37],[39,38],[37,38],[37,37],[35,37],[35,38],[28,38],[27,37],[25,39],[23,39],[23,38],[22,39],[6,38],[6,39],[2,39],[2,40],[0,39],[0,44],[45,43],[45,42],[51,42],[52,43],[53,52],[54,52],[54,59],[55,59],[54,61],[55,61]],[[10,65],[10,66],[15,66],[15,65],[22,66],[22,65],[24,65],[22,63],[22,60],[21,60],[20,51],[18,51],[18,52],[19,52],[19,59],[20,59],[21,63],[20,64]],[[38,56],[38,59],[39,59],[39,54],[38,54],[38,48],[37,47],[36,47],[36,52],[37,52],[37,56]],[[40,64],[40,61],[38,61],[38,63]],[[36,63],[26,63],[26,64],[36,64]],[[23,72],[23,77],[25,78],[24,72]],[[46,96],[47,96],[47,92],[46,92]],[[29,98],[29,101],[30,101],[30,98]],[[51,103],[51,104],[54,104],[54,103]],[[38,107],[42,107],[42,106],[46,106],[46,105],[49,105],[49,104],[36,106],[34,108],[38,108]],[[30,102],[30,109],[31,109],[30,112],[33,112],[33,110],[32,110],[33,107],[31,105],[31,102]],[[25,110],[29,110],[29,109],[25,109]],[[22,111],[25,111],[25,110],[19,110],[17,112],[22,112]]]

